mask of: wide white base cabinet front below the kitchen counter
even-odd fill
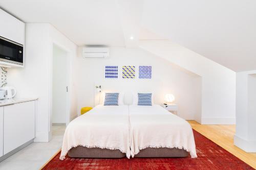
[[[35,101],[4,106],[4,155],[35,138]]]

